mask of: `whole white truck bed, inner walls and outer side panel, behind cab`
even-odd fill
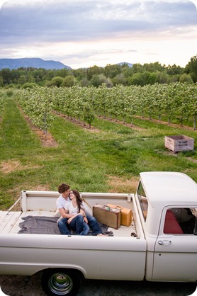
[[[110,203],[128,207],[133,212],[135,223],[132,222],[130,227],[108,228],[113,232],[112,237],[96,237],[59,234],[56,224],[56,200],[59,195],[50,191],[22,191],[18,201],[21,210],[17,205],[16,211],[11,207],[6,212],[0,212],[0,274],[33,275],[49,268],[64,268],[77,269],[89,279],[142,280],[147,243],[140,227],[135,197],[125,193],[81,193],[89,204],[89,210],[96,203]],[[23,220],[27,216],[37,218]],[[40,219],[38,216],[47,218]],[[36,221],[39,223],[36,224]],[[23,226],[22,233],[18,233],[21,222],[30,223],[28,232],[23,232],[26,229]],[[57,232],[51,234],[51,229],[50,232],[45,231],[44,222],[52,222]],[[34,232],[34,228],[38,232]],[[132,232],[137,237],[131,236]]]

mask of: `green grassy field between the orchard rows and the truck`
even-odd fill
[[[0,210],[21,190],[57,190],[62,182],[91,192],[133,192],[140,171],[181,171],[197,182],[197,132],[135,118],[132,129],[96,118],[91,130],[56,116],[50,133],[58,147],[43,147],[12,98],[0,122]],[[165,135],[188,135],[193,152],[173,154]]]

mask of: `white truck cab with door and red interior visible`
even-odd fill
[[[146,279],[196,282],[196,182],[184,173],[140,173],[136,195],[147,241]]]

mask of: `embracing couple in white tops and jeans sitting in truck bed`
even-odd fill
[[[76,235],[87,235],[91,228],[92,235],[103,235],[96,218],[85,213],[79,191],[69,190],[69,185],[62,183],[58,192],[61,195],[56,205],[62,216],[57,225],[61,234],[69,235],[74,230]]]

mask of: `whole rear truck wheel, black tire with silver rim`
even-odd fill
[[[43,291],[49,296],[73,296],[81,285],[79,273],[67,269],[47,269],[41,278]]]

